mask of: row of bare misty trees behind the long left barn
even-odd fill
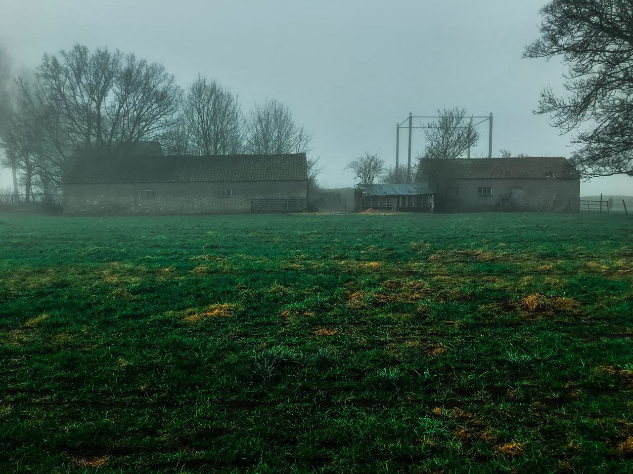
[[[276,100],[245,114],[215,80],[182,90],[162,64],[134,54],[76,45],[16,74],[0,50],[1,164],[15,193],[60,188],[77,150],[125,155],[151,140],[168,154],[284,154],[310,152],[312,135]],[[321,169],[310,161],[311,181]]]

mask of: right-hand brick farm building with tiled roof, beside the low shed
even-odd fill
[[[579,210],[580,174],[563,157],[422,159],[418,180],[439,212]]]

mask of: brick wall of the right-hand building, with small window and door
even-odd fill
[[[459,188],[460,197],[451,198],[448,188]],[[492,197],[478,197],[479,187],[491,187]],[[510,198],[510,188],[522,188],[523,200],[543,199],[556,200],[580,199],[580,180],[562,178],[539,179],[446,179],[437,183],[437,210],[443,212],[448,200],[452,203],[452,210],[456,212],[485,212],[500,210],[500,202]],[[577,210],[577,204],[575,209]]]

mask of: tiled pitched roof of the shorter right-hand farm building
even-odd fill
[[[419,176],[437,178],[573,178],[580,174],[567,159],[529,156],[517,158],[422,159]]]

